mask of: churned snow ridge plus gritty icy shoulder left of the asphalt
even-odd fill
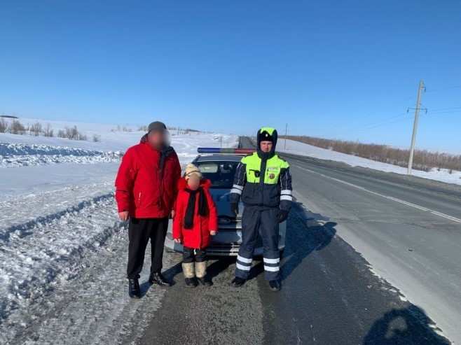
[[[145,296],[128,297],[128,233],[112,195],[80,204],[4,241],[0,344],[131,344],[160,307],[165,290],[149,289],[149,265]],[[180,261],[165,253],[164,267],[178,272]]]

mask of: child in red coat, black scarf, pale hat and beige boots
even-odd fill
[[[218,230],[218,217],[209,194],[210,185],[207,178],[202,178],[198,167],[188,164],[184,178],[179,180],[174,206],[173,238],[184,246],[182,270],[186,286],[191,288],[195,288],[198,282],[204,286],[212,285],[206,277],[206,249],[209,236],[214,236]]]

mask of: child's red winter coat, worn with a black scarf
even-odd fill
[[[198,197],[195,198],[195,213],[193,217],[193,228],[184,229],[184,218],[186,217],[186,209],[190,194],[186,192],[187,182],[181,178],[178,183],[178,196],[174,206],[173,219],[173,238],[181,239],[181,243],[189,248],[202,249],[209,245],[210,230],[218,231],[218,216],[216,213],[216,205],[214,204],[212,195],[209,194],[209,186],[211,182],[204,178],[200,182],[200,187],[203,188],[208,202],[208,216],[200,216],[198,214]]]

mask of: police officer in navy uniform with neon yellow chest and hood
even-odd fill
[[[242,245],[237,256],[232,285],[242,286],[252,267],[253,251],[258,236],[263,241],[263,263],[270,290],[279,291],[280,252],[279,223],[288,218],[291,209],[291,174],[289,164],[275,154],[277,131],[262,127],[257,134],[257,150],[243,157],[235,171],[231,190],[231,210],[238,214],[242,197]]]

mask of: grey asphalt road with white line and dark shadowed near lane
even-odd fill
[[[261,262],[231,288],[229,259],[209,262],[214,286],[188,290],[177,255],[142,344],[461,344],[461,188],[285,157],[282,291]]]

